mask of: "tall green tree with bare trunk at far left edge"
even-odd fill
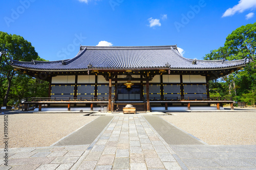
[[[7,83],[3,105],[7,106],[8,97],[12,85],[12,79],[16,72],[10,65],[11,60],[31,61],[37,59],[38,54],[30,42],[19,35],[11,35],[0,32],[0,83]]]

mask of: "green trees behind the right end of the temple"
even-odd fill
[[[224,46],[205,55],[204,60],[250,60],[242,70],[211,81],[209,87],[215,89],[211,95],[218,93],[221,96],[233,96],[237,101],[246,101],[245,96],[251,94],[256,82],[255,50],[256,22],[234,30],[227,36]]]

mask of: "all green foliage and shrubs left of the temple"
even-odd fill
[[[0,54],[0,104],[7,106],[18,103],[26,96],[36,96],[41,91],[37,89],[39,87],[48,91],[48,82],[14,71],[10,65],[11,60],[44,60],[38,57],[30,42],[19,35],[0,32]]]

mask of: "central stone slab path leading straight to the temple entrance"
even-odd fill
[[[142,116],[115,116],[78,169],[181,169]]]

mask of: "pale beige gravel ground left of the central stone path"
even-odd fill
[[[29,113],[9,114],[9,148],[48,147],[62,137],[91,122],[98,116],[83,116],[84,113]],[[4,115],[0,115],[4,129]],[[1,148],[4,132],[1,132]]]

